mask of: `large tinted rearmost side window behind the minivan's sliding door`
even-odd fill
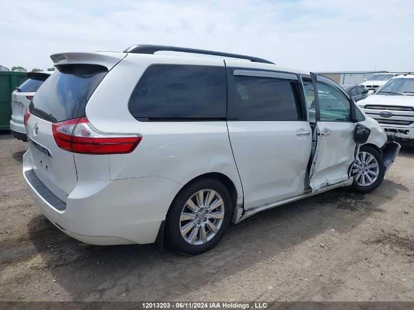
[[[135,86],[128,108],[140,119],[224,119],[225,68],[152,65]]]

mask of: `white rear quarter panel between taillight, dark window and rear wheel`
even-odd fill
[[[111,179],[161,176],[185,185],[219,172],[233,182],[237,202],[243,202],[225,121],[135,122],[143,139],[130,154],[109,155]]]

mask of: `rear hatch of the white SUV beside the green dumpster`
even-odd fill
[[[24,81],[22,85],[17,87],[11,96],[11,118],[18,123],[23,123],[26,108],[29,106],[30,101],[39,87],[46,81],[50,74],[43,72],[29,72],[27,73],[27,76],[29,78]]]

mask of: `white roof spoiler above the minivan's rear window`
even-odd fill
[[[50,59],[55,67],[65,64],[90,64],[104,66],[111,70],[126,55],[126,53],[118,52],[74,52],[53,54],[50,55]]]

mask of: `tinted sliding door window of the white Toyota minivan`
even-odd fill
[[[297,81],[257,76],[235,76],[234,81],[234,119],[302,119]]]

